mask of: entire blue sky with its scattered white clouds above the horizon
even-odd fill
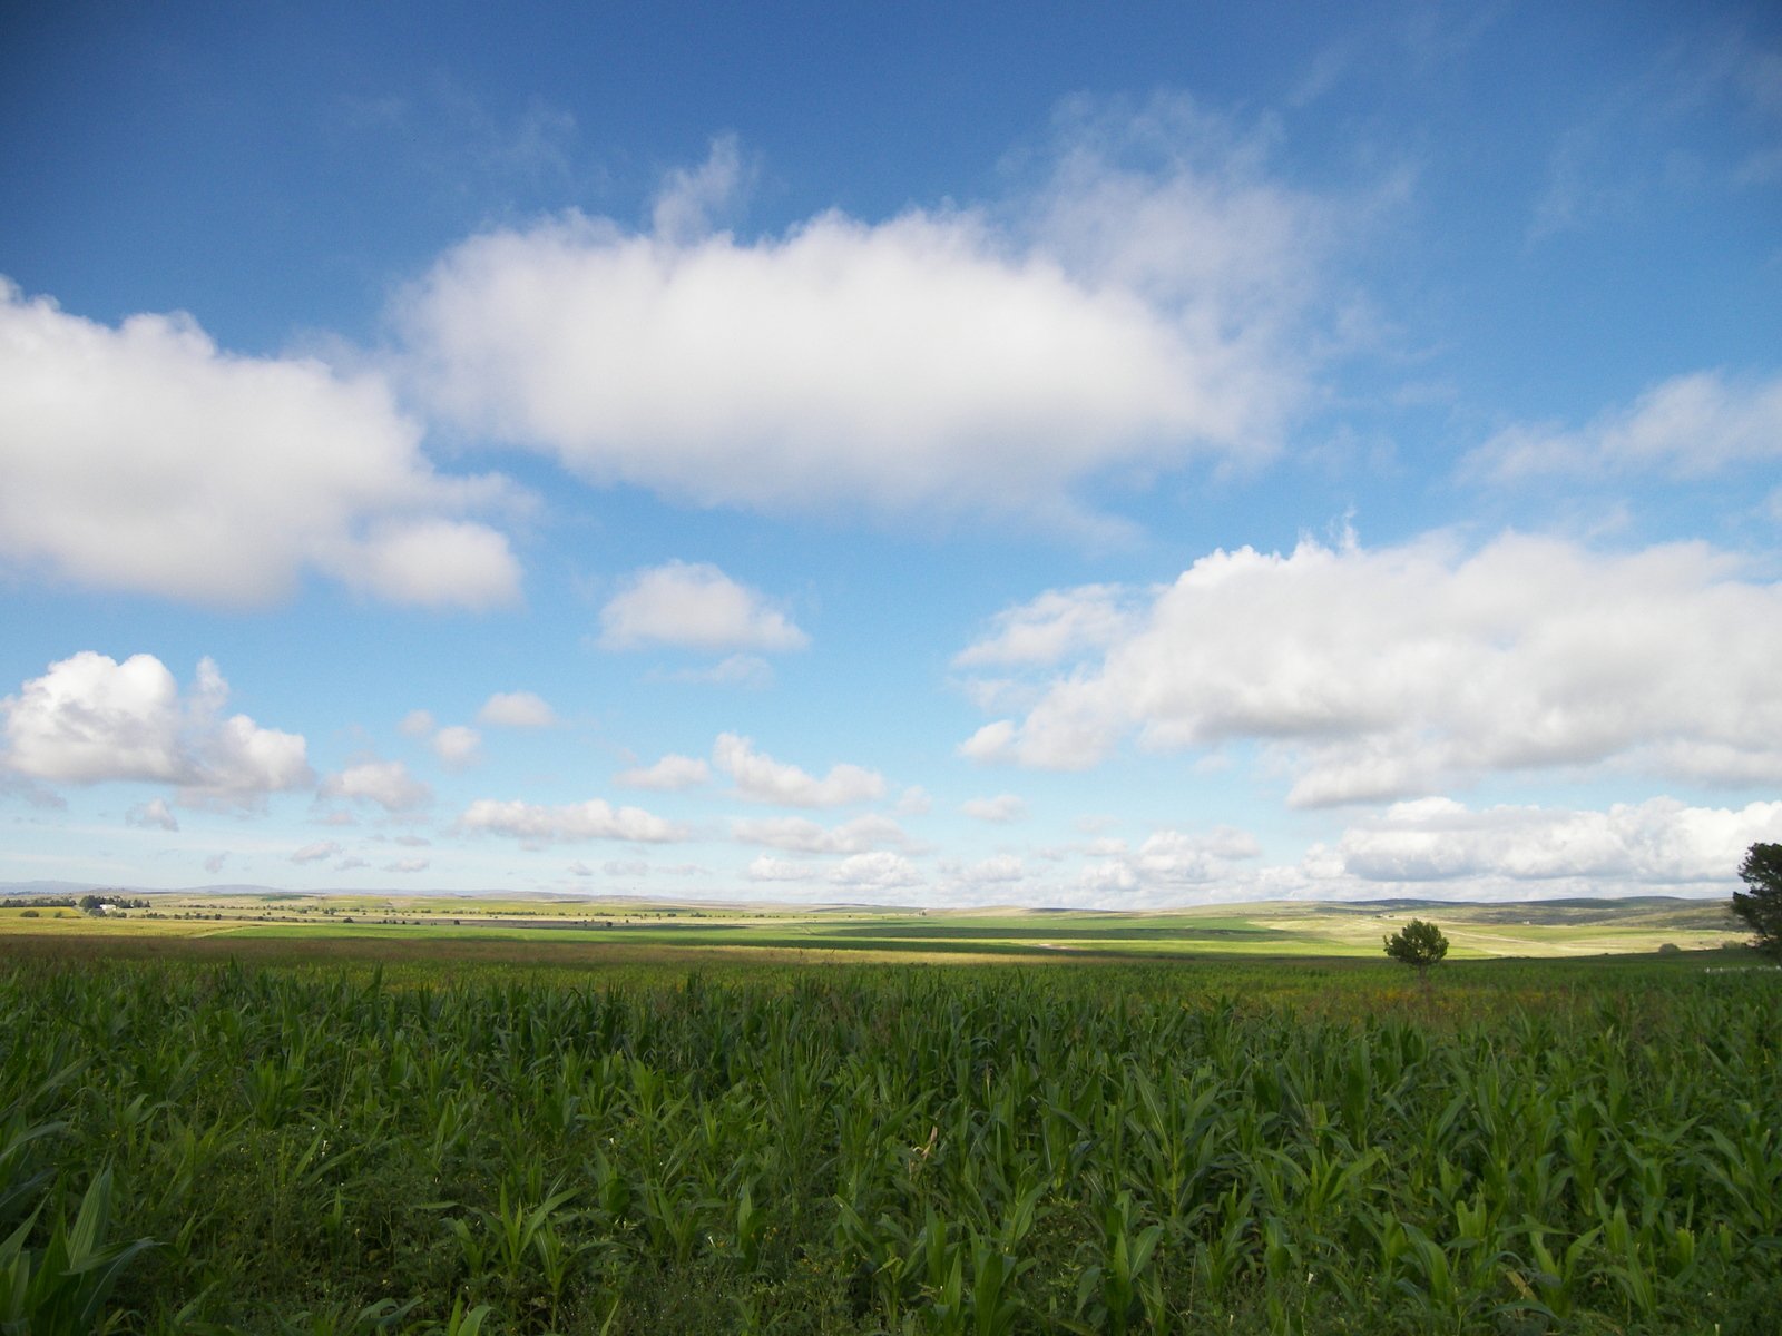
[[[1782,839],[1771,5],[9,5],[0,880]]]

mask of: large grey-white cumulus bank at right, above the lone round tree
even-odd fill
[[[1597,554],[1506,534],[1475,552],[1214,552],[1098,661],[960,752],[1087,768],[1132,737],[1256,743],[1320,805],[1436,793],[1497,771],[1611,766],[1782,780],[1782,586],[1677,543]]]

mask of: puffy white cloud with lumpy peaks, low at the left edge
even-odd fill
[[[82,650],[0,700],[5,764],[20,775],[73,784],[175,784],[182,802],[246,803],[314,782],[301,736],[219,718],[228,682],[210,659],[182,700],[151,654],[123,663]]]

